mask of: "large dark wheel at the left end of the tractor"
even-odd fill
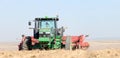
[[[31,47],[32,47],[31,37],[28,36],[28,37],[26,37],[25,41],[23,42],[22,50],[32,50]]]

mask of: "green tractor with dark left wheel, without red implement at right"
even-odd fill
[[[34,36],[23,36],[19,50],[32,49],[60,49],[62,48],[62,37],[64,28],[57,28],[58,17],[35,18]],[[29,22],[31,25],[31,22]]]

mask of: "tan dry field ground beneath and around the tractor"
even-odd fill
[[[0,58],[120,58],[120,42],[90,42],[87,50],[17,51],[18,43],[0,43]]]

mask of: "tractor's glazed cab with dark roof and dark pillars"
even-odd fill
[[[35,18],[34,37],[53,37],[56,35],[58,18]]]

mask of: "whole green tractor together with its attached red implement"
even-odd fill
[[[65,29],[57,27],[58,17],[35,18],[33,36],[22,35],[22,41],[18,45],[19,50],[32,49],[61,49],[71,50],[73,48],[86,49],[88,42],[84,42],[87,35],[64,36]],[[31,25],[31,22],[29,22]]]

